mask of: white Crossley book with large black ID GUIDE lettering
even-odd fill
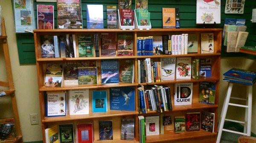
[[[174,105],[191,105],[193,83],[175,84]]]

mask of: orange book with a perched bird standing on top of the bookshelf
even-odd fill
[[[176,28],[175,8],[163,8],[163,28]]]

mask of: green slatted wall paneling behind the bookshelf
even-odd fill
[[[82,6],[82,17],[83,17],[83,28],[87,28],[86,25],[86,4],[103,4],[104,11],[104,27],[107,27],[106,22],[106,6],[116,5],[118,0],[81,0]],[[226,0],[221,0],[221,24],[216,25],[216,28],[222,28],[224,25],[225,18],[244,18],[246,19],[247,31],[250,31],[246,45],[255,46],[256,39],[256,24],[251,23],[251,11],[252,8],[256,7],[256,3],[253,0],[246,0],[244,7],[244,14],[224,14]],[[36,2],[34,0],[34,9],[36,15],[37,4],[51,4],[54,5],[54,25],[57,28],[57,7],[56,3],[47,2]],[[180,27],[181,28],[201,28],[202,25],[196,23],[196,0],[148,0],[148,11],[151,12],[151,25],[152,28],[162,28],[162,8],[179,8],[180,9]],[[132,3],[134,8],[134,0]],[[36,21],[36,17],[35,17]],[[17,45],[19,52],[20,64],[32,64],[35,63],[35,47],[33,34],[16,34]],[[224,47],[221,51],[222,57],[229,56],[245,56],[241,53],[226,53]]]

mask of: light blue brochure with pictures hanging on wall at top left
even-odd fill
[[[13,0],[15,32],[33,32],[35,28],[33,0]]]

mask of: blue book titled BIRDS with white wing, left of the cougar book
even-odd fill
[[[102,84],[119,83],[119,62],[116,59],[102,60]]]

